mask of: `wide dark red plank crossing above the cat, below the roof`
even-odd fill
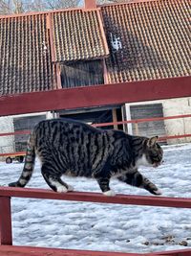
[[[189,96],[191,77],[111,83],[2,96],[0,116]]]

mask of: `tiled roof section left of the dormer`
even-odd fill
[[[46,17],[0,18],[0,95],[53,89]]]

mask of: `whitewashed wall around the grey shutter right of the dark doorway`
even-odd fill
[[[161,103],[163,105],[164,117],[191,114],[191,97],[127,104],[126,108],[129,108],[130,105],[140,105],[140,104],[147,105],[147,104],[157,104],[157,103]],[[131,119],[129,115],[128,115],[128,119]],[[166,135],[168,136],[191,134],[191,118],[164,120],[164,126],[166,130]],[[191,142],[191,137],[171,139],[171,140],[168,140],[167,142],[168,144]]]

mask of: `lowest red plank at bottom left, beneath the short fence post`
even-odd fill
[[[143,254],[2,245],[0,246],[0,255],[2,256],[141,256]]]

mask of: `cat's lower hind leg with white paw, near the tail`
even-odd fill
[[[62,174],[54,170],[50,163],[42,165],[41,173],[45,181],[53,189],[53,191],[59,193],[66,193],[74,190],[71,185],[68,185],[61,179]]]

